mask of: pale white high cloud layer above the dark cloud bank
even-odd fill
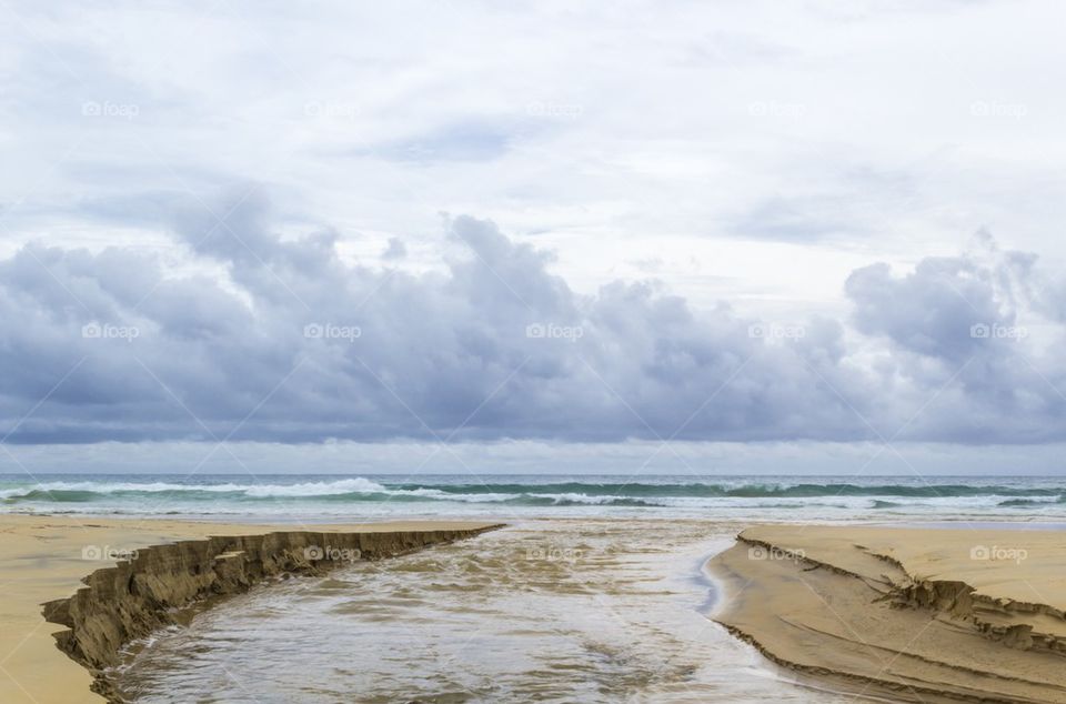
[[[265,183],[353,257],[431,265],[438,212],[477,213],[582,292],[655,258],[752,312],[983,225],[1066,254],[1050,0],[8,4],[9,252],[159,244],[131,194]]]

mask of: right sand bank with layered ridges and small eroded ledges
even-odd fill
[[[716,621],[835,688],[1066,702],[1066,534],[755,526],[711,569]]]

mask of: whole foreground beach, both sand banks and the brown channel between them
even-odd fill
[[[1066,702],[1054,531],[550,517],[486,532],[500,523],[0,516],[0,701],[103,702],[108,666],[114,688],[98,692],[144,702],[205,687],[269,702]],[[304,560],[323,543],[355,557]],[[142,592],[207,595],[194,617],[130,617],[143,600],[110,591],[132,583],[130,557],[154,565]],[[190,581],[203,562],[211,581]],[[63,652],[42,604],[90,573],[68,607],[82,651]],[[103,605],[86,596],[100,590]],[[115,613],[129,627],[101,627]],[[131,635],[151,637],[118,654]],[[379,657],[346,665],[368,650]]]

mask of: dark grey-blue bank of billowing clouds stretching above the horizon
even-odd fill
[[[329,232],[279,237],[255,197],[164,217],[227,275],[132,248],[0,262],[10,442],[1064,435],[1060,365],[1008,336],[1029,299],[1059,309],[1029,290],[1032,258],[990,244],[988,261],[854,272],[856,342],[839,321],[696,311],[651,282],[582,295],[549,253],[469,217],[420,275],[346,264]]]

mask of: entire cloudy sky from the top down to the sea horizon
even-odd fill
[[[0,1],[0,471],[1058,473],[1055,2]]]

